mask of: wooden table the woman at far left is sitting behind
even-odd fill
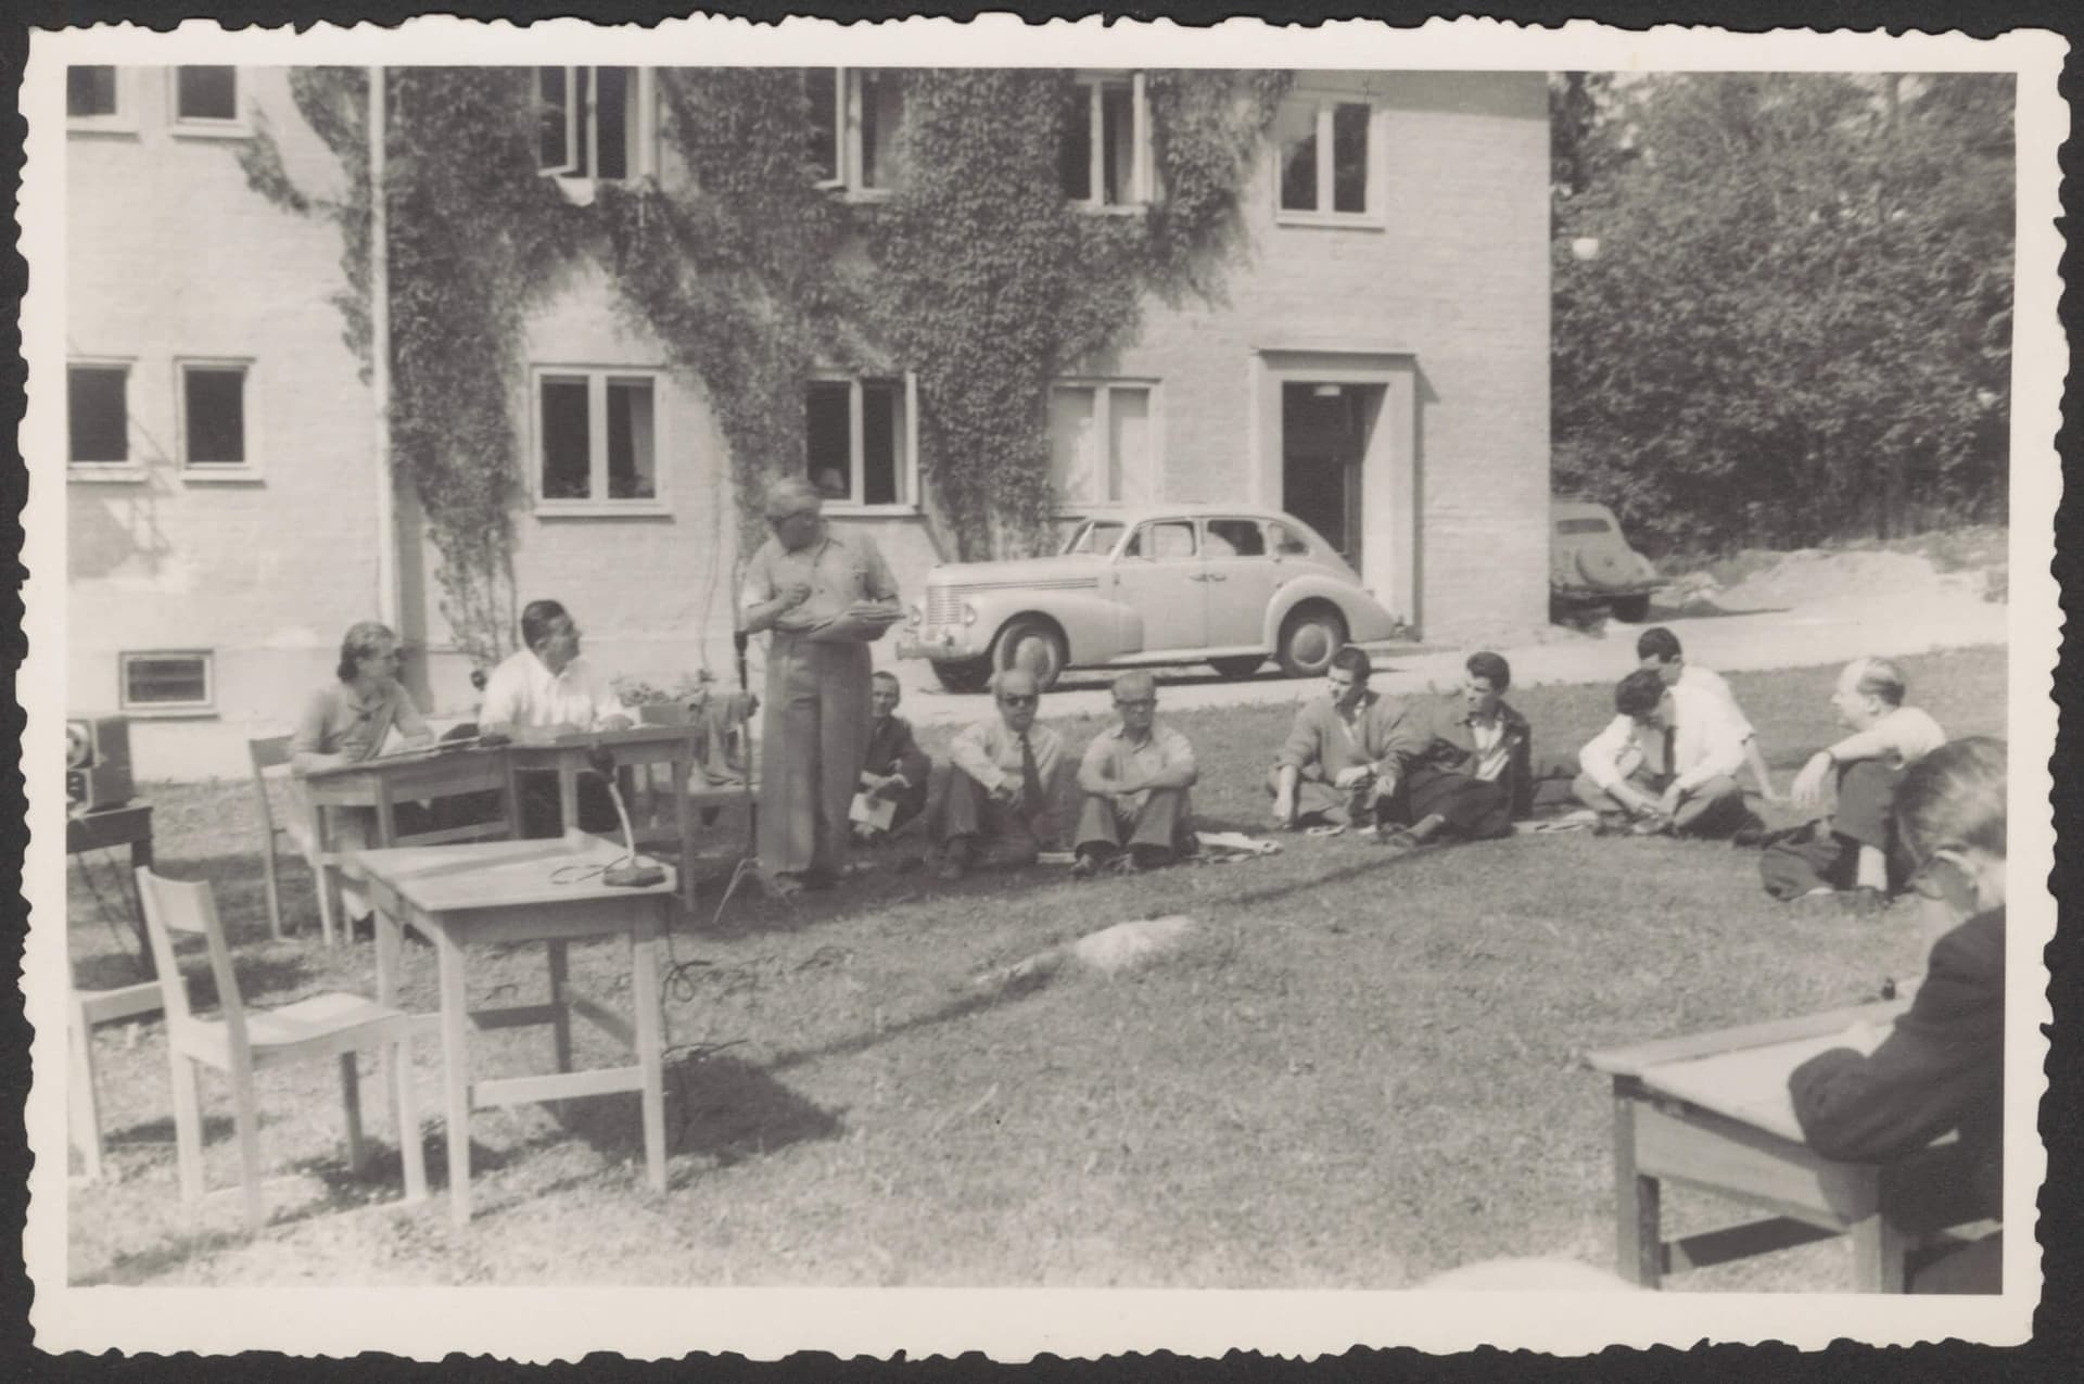
[[[336,811],[344,807],[365,807],[375,811],[375,846],[398,844],[398,805],[421,798],[454,798],[471,792],[500,792],[506,796],[506,823],[475,823],[448,832],[427,832],[413,840],[440,844],[444,840],[483,838],[504,832],[521,836],[521,805],[513,792],[513,775],[506,765],[506,750],[469,746],[461,750],[415,750],[411,755],[379,755],[354,765],[313,769],[300,773],[311,802],[313,832],[317,834],[317,855],[313,869],[319,871],[319,888],[325,892],[319,913],[329,923],[340,915],[340,823]],[[342,934],[348,932],[342,919]],[[333,930],[325,930],[327,946],[333,944]]]

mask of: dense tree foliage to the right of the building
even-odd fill
[[[1553,113],[1561,488],[1665,548],[2003,509],[2003,77],[1561,79]]]

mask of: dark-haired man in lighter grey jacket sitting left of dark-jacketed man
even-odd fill
[[[1267,773],[1273,823],[1369,827],[1394,813],[1398,765],[1423,746],[1411,709],[1367,690],[1373,665],[1346,644],[1323,671],[1325,694],[1296,711]]]

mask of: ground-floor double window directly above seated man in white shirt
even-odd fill
[[[659,377],[536,375],[536,496],[546,502],[659,498]]]

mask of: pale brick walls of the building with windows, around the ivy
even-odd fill
[[[246,186],[265,121],[300,188],[338,160],[286,69],[69,73],[69,705],[133,717],[146,777],[235,773],[369,619],[386,544],[423,702],[469,709],[408,496],[379,523],[375,406],[342,340],[338,231]],[[815,71],[836,196],[902,177],[902,79]],[[656,175],[644,69],[542,69],[569,119],[544,158],[575,196]],[[1142,83],[1096,73],[1090,167],[1065,194],[1155,183]],[[554,129],[554,125],[546,125]],[[671,177],[671,169],[665,171]],[[1146,304],[1138,342],[1052,392],[1063,506],[1288,509],[1428,640],[1546,615],[1548,125],[1540,73],[1300,73],[1246,196],[1221,304]],[[729,665],[734,498],[698,381],[598,275],[529,323],[517,381],[521,600],[554,594],[611,671]],[[807,473],[907,592],[936,561],[904,379],[804,381]],[[884,652],[877,654],[888,657]]]

